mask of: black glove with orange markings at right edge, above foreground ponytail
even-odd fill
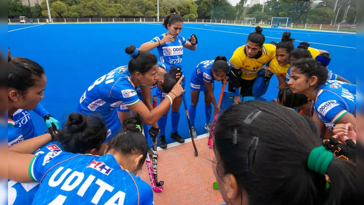
[[[325,148],[331,151],[335,157],[344,158],[356,162],[356,145],[352,139],[347,139],[345,141],[347,145],[339,142],[334,137],[330,137],[329,140],[325,142]]]

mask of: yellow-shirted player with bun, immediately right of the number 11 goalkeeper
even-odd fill
[[[284,32],[281,42],[276,45],[276,57],[269,62],[269,69],[277,76],[279,87],[286,87],[289,54],[294,50],[294,40],[290,32]]]

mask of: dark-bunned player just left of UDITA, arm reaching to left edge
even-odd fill
[[[50,151],[54,155],[58,155],[63,151],[96,155],[106,139],[106,134],[106,124],[101,117],[71,113],[62,130],[52,130],[49,134],[19,142],[9,147],[9,150],[34,155]],[[50,142],[48,142],[49,135],[51,135]],[[8,181],[8,205],[32,204],[38,189],[38,182],[19,183],[12,180]]]

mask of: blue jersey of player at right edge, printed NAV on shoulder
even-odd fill
[[[332,131],[336,122],[345,114],[354,113],[356,94],[350,92],[353,87],[356,85],[328,80],[318,88],[313,105],[318,117],[329,130]]]

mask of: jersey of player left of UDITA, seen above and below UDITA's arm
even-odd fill
[[[33,154],[53,152],[53,157],[55,157],[62,151],[64,149],[59,142],[49,142]],[[19,183],[12,180],[8,181],[8,205],[31,205],[38,189],[38,182]]]

